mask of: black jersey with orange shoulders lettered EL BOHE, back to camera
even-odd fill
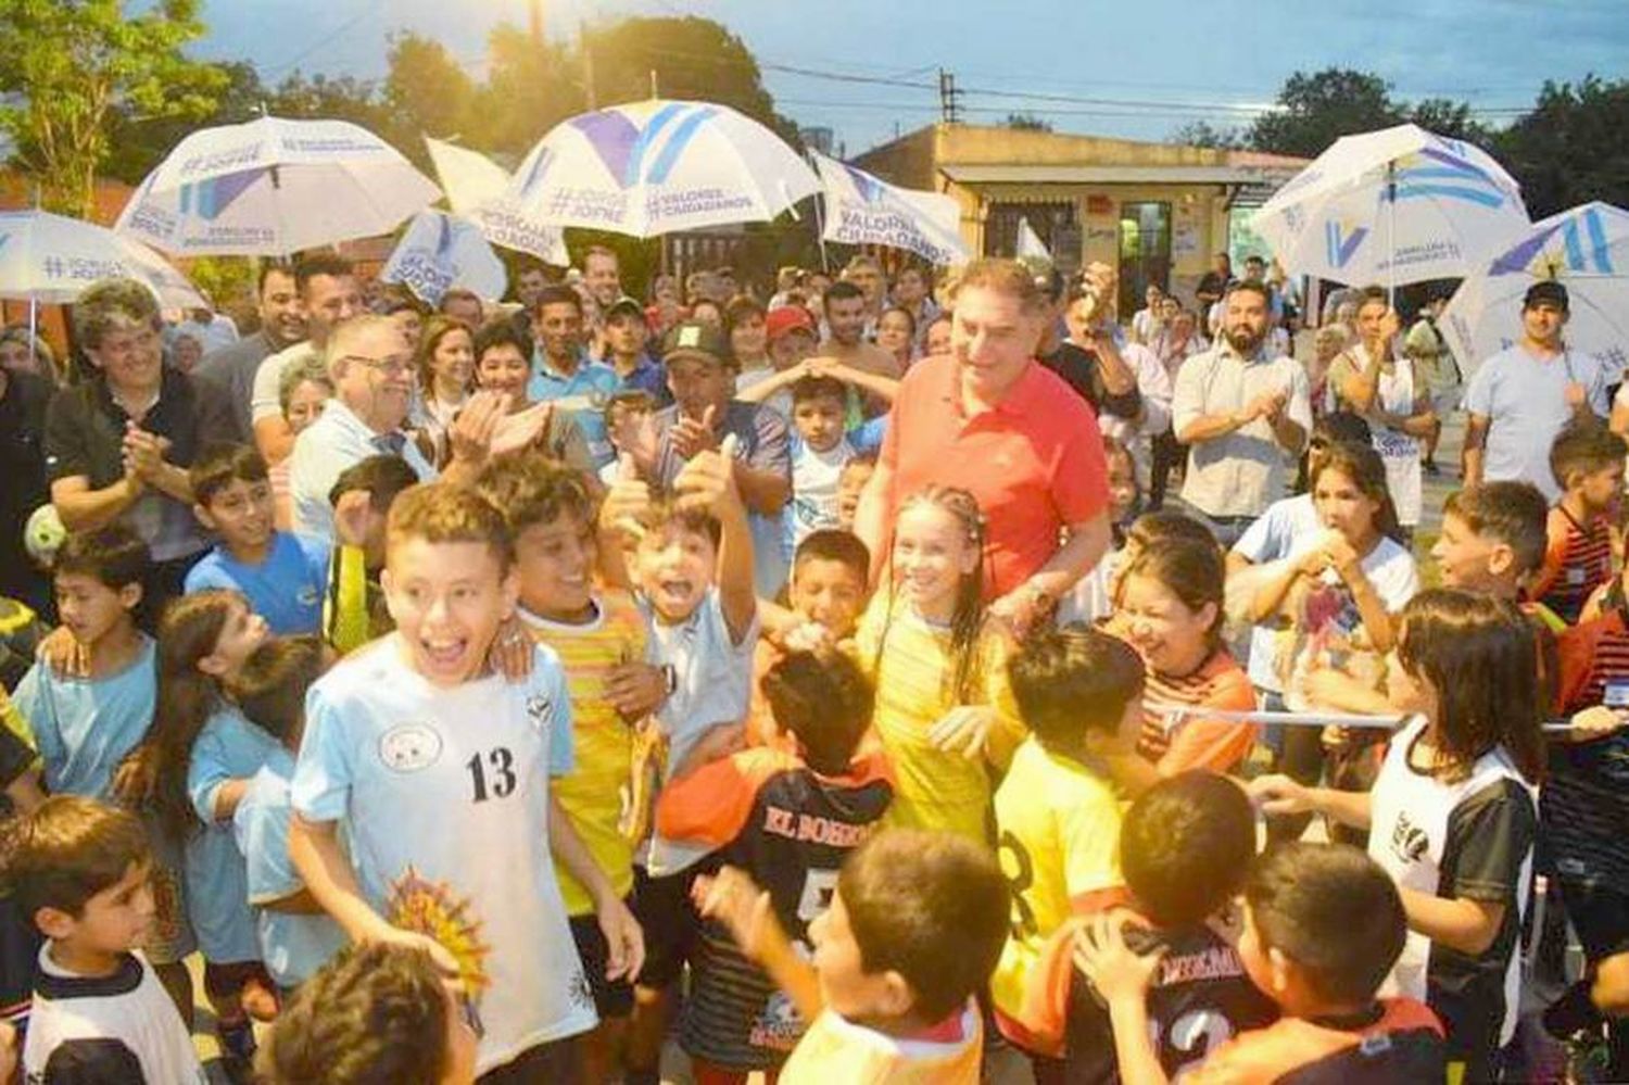
[[[800,945],[831,903],[842,860],[865,841],[893,793],[888,759],[875,746],[841,777],[821,775],[785,749],[744,749],[670,780],[656,802],[656,831],[710,846],[725,863],[746,870]],[[779,1065],[806,1021],[722,924],[702,927],[692,968],[681,1046],[731,1069]]]

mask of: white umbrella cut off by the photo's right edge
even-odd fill
[[[1629,362],[1629,212],[1585,204],[1538,222],[1466,277],[1442,314],[1466,371],[1521,339],[1521,298],[1535,282],[1567,287],[1567,347]]]

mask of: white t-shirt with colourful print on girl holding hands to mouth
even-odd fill
[[[1290,559],[1298,559],[1316,546],[1318,536],[1319,533],[1313,533],[1302,539],[1290,552]],[[1373,585],[1388,614],[1401,611],[1420,588],[1414,556],[1390,538],[1381,536],[1380,544],[1359,565],[1362,565],[1363,575],[1368,577],[1368,583]],[[1337,666],[1359,681],[1378,686],[1386,661],[1375,650],[1373,640],[1363,627],[1363,616],[1346,582],[1333,569],[1326,570],[1310,590],[1298,595],[1298,600],[1295,624],[1287,630],[1290,678],[1284,684],[1284,704],[1293,712],[1318,707],[1308,704],[1297,692],[1302,676],[1311,670],[1315,655],[1319,663]],[[1282,668],[1285,660],[1282,642],[1277,658]]]

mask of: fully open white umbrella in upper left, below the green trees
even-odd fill
[[[389,233],[440,195],[367,129],[261,117],[181,140],[114,228],[166,253],[285,256]]]

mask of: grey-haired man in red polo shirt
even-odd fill
[[[969,490],[987,525],[990,613],[1020,630],[1109,544],[1103,437],[1091,409],[1034,360],[1046,319],[1021,264],[968,266],[950,355],[906,373],[855,518],[881,569],[901,500],[929,484]]]

